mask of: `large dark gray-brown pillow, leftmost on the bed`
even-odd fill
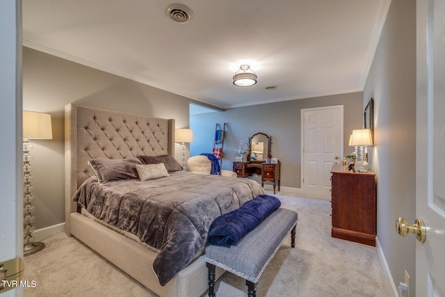
[[[106,184],[115,180],[137,179],[136,165],[142,165],[138,158],[105,159],[97,158],[88,161],[96,172],[99,184]]]

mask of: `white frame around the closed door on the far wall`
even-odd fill
[[[325,109],[340,109],[340,133],[339,133],[339,154],[343,154],[343,130],[344,130],[344,105],[328,105],[328,106],[319,106],[319,107],[311,107],[308,109],[301,109],[300,111],[300,120],[301,120],[301,131],[300,131],[300,191],[302,194],[313,196],[320,198],[321,196],[312,195],[310,193],[306,193],[306,189],[304,187],[303,179],[305,178],[305,111],[321,111]],[[324,197],[323,197],[324,198]]]

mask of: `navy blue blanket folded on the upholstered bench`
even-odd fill
[[[259,195],[245,202],[239,209],[213,220],[209,227],[207,242],[215,246],[234,246],[280,205],[280,200],[270,195]]]

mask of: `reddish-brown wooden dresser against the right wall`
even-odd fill
[[[336,163],[331,191],[332,237],[375,246],[375,174],[351,172]]]

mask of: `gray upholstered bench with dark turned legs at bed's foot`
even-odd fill
[[[208,246],[204,256],[209,269],[209,296],[215,295],[216,266],[245,279],[248,296],[256,296],[256,284],[281,243],[291,232],[291,247],[295,247],[298,214],[279,208],[257,227],[245,234],[235,246]]]

